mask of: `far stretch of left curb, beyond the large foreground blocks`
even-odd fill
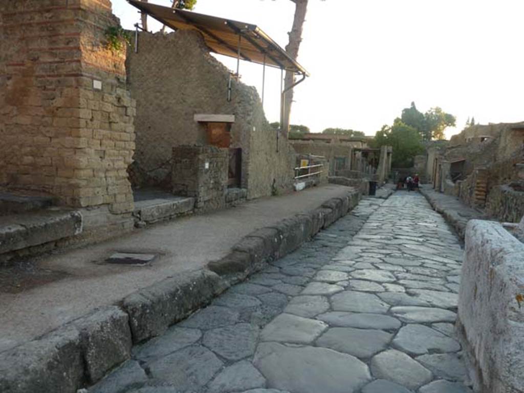
[[[239,241],[231,253],[208,264],[209,270],[226,278],[230,284],[244,280],[267,262],[298,249],[321,229],[329,227],[352,210],[360,200],[357,190],[345,197],[331,198],[321,207],[297,214],[274,226],[259,229]]]

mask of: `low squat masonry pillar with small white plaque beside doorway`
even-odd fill
[[[214,146],[173,148],[173,194],[195,198],[195,210],[225,206],[228,149]]]

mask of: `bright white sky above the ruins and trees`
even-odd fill
[[[170,0],[149,0],[166,5]],[[136,8],[112,0],[124,28]],[[195,12],[258,25],[288,42],[290,0],[198,0]],[[312,132],[351,128],[374,135],[415,102],[476,123],[524,120],[522,0],[309,0],[299,63],[311,77],[295,89],[291,123]],[[148,19],[149,30],[161,26]],[[217,56],[236,71],[236,59]],[[242,81],[262,88],[262,66],[241,61]],[[280,70],[267,68],[264,109],[278,121]]]

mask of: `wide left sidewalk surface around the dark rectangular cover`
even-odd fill
[[[326,185],[260,198],[235,208],[158,223],[82,249],[31,258],[21,265],[27,266],[29,288],[0,288],[0,353],[121,302],[166,277],[202,270],[226,256],[250,232],[352,191],[351,187]],[[115,252],[154,254],[155,260],[141,267],[105,264]],[[50,278],[35,283],[31,272]]]

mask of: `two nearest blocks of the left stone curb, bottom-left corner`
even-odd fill
[[[128,317],[116,306],[0,353],[0,391],[75,392],[129,358]]]

